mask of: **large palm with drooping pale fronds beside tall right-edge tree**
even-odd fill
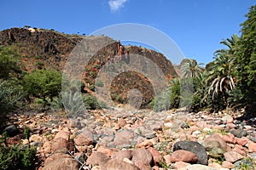
[[[220,49],[216,51],[215,60],[208,69],[207,82],[209,84],[208,95],[212,94],[212,100],[220,95],[224,99],[224,103],[227,103],[227,97],[230,91],[236,88],[236,77],[234,65],[237,42],[240,41],[240,37],[234,34],[231,38],[227,38],[220,42],[228,47],[228,49]],[[218,97],[220,97],[218,96]]]

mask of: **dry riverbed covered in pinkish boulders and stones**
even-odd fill
[[[74,120],[60,112],[14,116],[10,125],[32,129],[38,169],[256,169],[256,118],[239,116],[115,108]]]

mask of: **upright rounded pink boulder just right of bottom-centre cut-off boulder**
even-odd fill
[[[137,148],[132,150],[132,162],[134,162],[137,167],[142,167],[143,165],[150,165],[153,161],[151,153],[145,148]]]

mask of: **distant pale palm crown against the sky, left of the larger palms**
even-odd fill
[[[200,66],[202,64],[197,64],[195,59],[186,59],[186,61],[181,66],[182,76],[185,78],[195,78],[199,77],[204,69]]]

